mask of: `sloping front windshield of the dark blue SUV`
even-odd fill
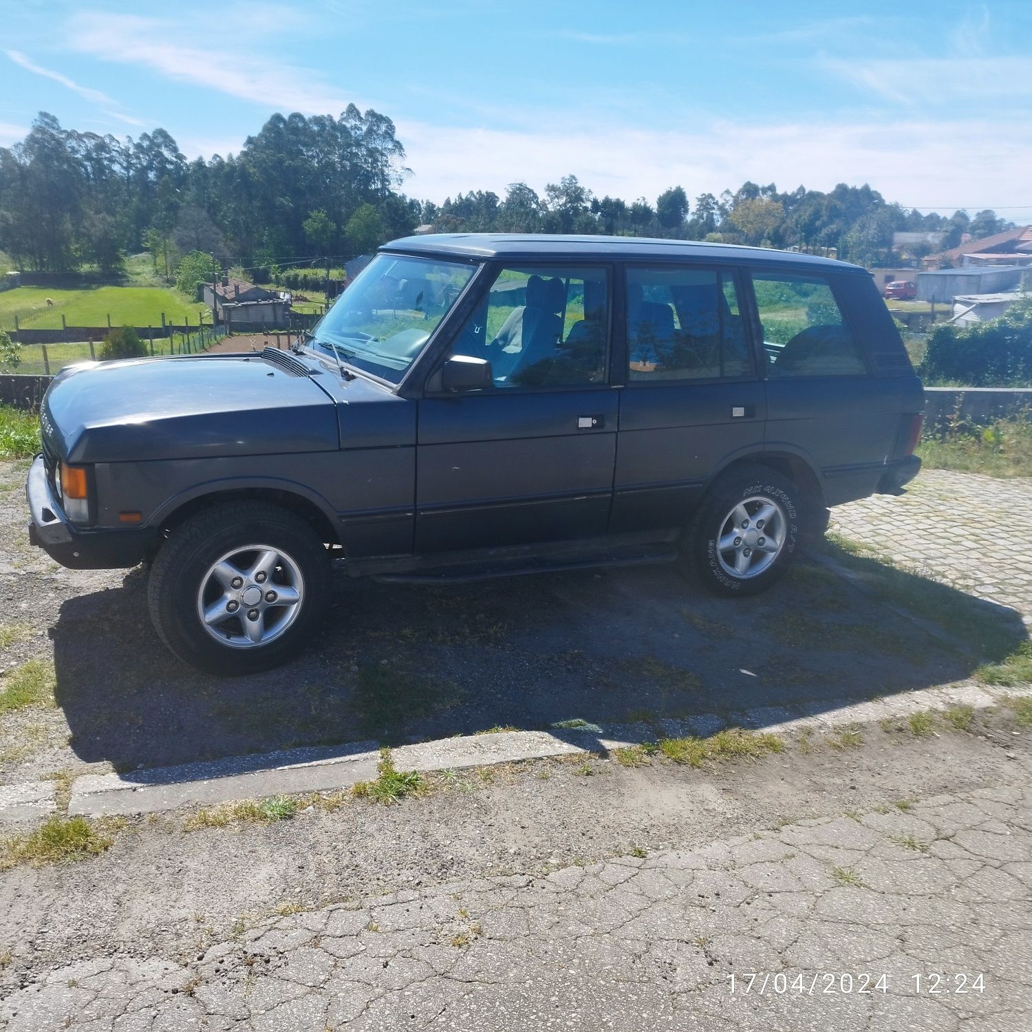
[[[399,383],[475,266],[377,255],[316,324],[310,347]]]

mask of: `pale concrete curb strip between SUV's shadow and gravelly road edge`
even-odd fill
[[[606,752],[664,735],[708,737],[727,727],[778,734],[803,728],[829,731],[844,724],[900,719],[925,709],[950,706],[986,709],[1000,695],[1032,696],[1032,686],[994,692],[972,682],[925,688],[901,696],[851,703],[825,700],[817,704],[769,706],[742,712],[699,713],[683,720],[645,723],[555,727],[550,731],[507,731],[419,742],[391,750],[398,770],[421,773],[489,767],[494,764],[549,756]],[[573,721],[575,724],[582,723]],[[213,763],[151,768],[125,774],[87,774],[75,779],[68,805],[70,816],[153,813],[181,806],[212,805],[301,792],[346,788],[377,776],[380,751],[376,742],[334,747],[307,747],[255,755],[231,756]],[[54,784],[32,781],[0,786],[0,820],[26,820],[55,812]]]

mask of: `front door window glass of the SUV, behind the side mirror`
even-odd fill
[[[496,388],[582,387],[606,381],[605,268],[504,268],[452,348],[485,358]]]

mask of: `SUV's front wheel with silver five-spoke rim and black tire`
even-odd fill
[[[264,503],[220,505],[172,531],[148,602],[170,651],[232,677],[294,655],[326,611],[330,581],[326,549],[302,519]]]

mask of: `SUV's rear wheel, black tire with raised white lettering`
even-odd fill
[[[766,560],[765,556],[770,553],[756,546],[759,542],[765,548],[770,547],[771,539],[763,535],[763,527],[757,529],[750,525],[746,529],[736,523],[737,531],[745,531],[744,535],[738,534],[736,540],[742,542],[741,550],[745,551],[745,556],[741,561],[747,565],[743,573],[738,573],[734,569],[734,559],[738,557],[739,549],[720,550],[717,545],[722,540],[721,533],[725,538],[731,533],[737,533],[729,530],[731,524],[728,522],[736,507],[744,506],[745,514],[751,520],[761,511],[767,511],[765,504],[775,507],[777,515],[770,518],[781,521],[780,548],[772,560]],[[688,535],[686,551],[707,590],[724,598],[759,594],[780,580],[788,569],[799,545],[800,528],[805,517],[802,492],[791,480],[765,465],[737,466],[720,477],[707,492]],[[753,537],[755,541],[752,541]],[[753,553],[751,557],[750,553]],[[765,561],[767,565],[763,566]],[[761,569],[756,570],[756,567]]]

